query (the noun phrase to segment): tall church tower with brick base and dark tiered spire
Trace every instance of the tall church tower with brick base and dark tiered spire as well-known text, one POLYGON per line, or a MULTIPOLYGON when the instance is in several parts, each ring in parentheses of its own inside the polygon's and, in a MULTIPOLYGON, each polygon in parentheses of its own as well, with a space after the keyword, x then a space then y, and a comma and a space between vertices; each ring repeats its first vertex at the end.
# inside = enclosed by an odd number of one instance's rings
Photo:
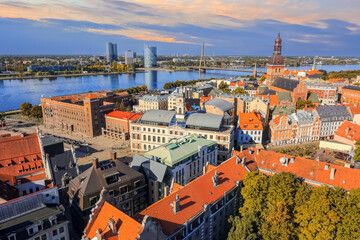
POLYGON ((284 68, 285 65, 284 59, 281 56, 281 38, 279 33, 275 39, 274 53, 267 65, 266 85, 269 88, 276 78, 284 76, 284 68))

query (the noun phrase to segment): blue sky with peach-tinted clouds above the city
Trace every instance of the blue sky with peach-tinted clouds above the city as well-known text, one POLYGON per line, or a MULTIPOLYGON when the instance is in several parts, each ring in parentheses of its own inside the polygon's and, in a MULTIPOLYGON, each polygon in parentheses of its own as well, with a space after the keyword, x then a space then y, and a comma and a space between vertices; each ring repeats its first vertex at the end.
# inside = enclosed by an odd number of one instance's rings
POLYGON ((360 56, 359 0, 0 0, 0 55, 360 56))

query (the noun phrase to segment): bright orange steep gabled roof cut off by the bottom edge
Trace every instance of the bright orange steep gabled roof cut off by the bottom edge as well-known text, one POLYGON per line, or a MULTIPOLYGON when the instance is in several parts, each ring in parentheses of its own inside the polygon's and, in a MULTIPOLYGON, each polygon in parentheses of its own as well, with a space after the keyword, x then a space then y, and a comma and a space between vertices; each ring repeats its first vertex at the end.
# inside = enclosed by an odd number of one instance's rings
POLYGON ((93 239, 96 237, 97 230, 106 240, 133 240, 137 239, 138 234, 143 231, 143 226, 110 203, 104 202, 99 214, 92 220, 92 224, 85 228, 84 233, 88 239, 93 239), (118 228, 115 235, 111 233, 108 226, 110 218, 115 221, 118 228))

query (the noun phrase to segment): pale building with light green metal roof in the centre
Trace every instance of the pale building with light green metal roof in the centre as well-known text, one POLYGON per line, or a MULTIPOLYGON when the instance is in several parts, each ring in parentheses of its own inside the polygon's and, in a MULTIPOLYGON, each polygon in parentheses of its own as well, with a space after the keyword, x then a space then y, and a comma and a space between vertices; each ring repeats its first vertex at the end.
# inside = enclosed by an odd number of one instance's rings
POLYGON ((169 143, 144 153, 144 157, 166 165, 174 182, 182 186, 203 174, 207 164, 217 166, 215 141, 197 134, 170 140, 169 143))

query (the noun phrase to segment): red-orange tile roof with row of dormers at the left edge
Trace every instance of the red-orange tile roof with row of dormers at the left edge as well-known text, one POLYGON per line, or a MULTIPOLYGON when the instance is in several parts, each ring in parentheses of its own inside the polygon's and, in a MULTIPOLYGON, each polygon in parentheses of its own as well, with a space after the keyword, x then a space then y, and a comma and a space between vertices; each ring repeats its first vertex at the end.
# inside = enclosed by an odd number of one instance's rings
POLYGON ((44 171, 36 133, 0 138, 0 153, 0 174, 18 177, 44 171))

